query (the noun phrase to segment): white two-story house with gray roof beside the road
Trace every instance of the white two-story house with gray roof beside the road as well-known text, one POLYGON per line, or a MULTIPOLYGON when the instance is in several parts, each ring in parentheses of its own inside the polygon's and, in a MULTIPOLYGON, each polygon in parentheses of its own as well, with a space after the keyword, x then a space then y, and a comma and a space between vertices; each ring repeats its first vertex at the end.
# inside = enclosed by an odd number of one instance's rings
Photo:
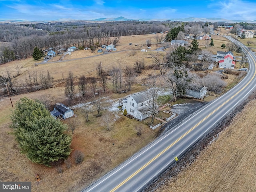
POLYGON ((143 120, 150 115, 147 111, 147 106, 150 104, 150 100, 152 100, 150 92, 144 91, 128 96, 127 98, 120 100, 120 102, 123 104, 123 112, 126 109, 127 114, 138 120, 143 120))

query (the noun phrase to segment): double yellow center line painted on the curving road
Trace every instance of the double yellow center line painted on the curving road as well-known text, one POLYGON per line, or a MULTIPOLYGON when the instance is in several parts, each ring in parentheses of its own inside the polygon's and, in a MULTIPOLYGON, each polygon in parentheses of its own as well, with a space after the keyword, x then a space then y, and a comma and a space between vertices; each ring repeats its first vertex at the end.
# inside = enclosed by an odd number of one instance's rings
MULTIPOLYGON (((250 53, 249 53, 250 54, 250 53)), ((250 54, 250 56, 252 57, 252 55, 250 54)), ((256 63, 254 61, 254 65, 256 66, 256 63)), ((118 186, 116 186, 114 189, 112 189, 110 192, 114 192, 116 191, 118 188, 120 188, 120 186, 122 186, 123 184, 125 184, 128 180, 130 180, 131 178, 133 178, 136 174, 138 174, 139 172, 141 172, 144 168, 146 168, 148 165, 150 165, 154 160, 156 160, 159 156, 161 156, 164 152, 166 152, 168 149, 170 149, 172 146, 174 146, 174 144, 176 144, 178 141, 180 141, 182 138, 184 138, 187 134, 189 134, 192 130, 194 130, 198 125, 200 125, 202 122, 204 122, 206 119, 208 119, 212 114, 214 114, 217 110, 219 110, 222 106, 224 106, 227 102, 229 102, 231 99, 233 99, 237 94, 239 94, 242 90, 244 90, 244 88, 246 88, 248 86, 248 84, 250 84, 250 82, 252 82, 253 78, 256 75, 256 71, 254 72, 254 75, 252 76, 252 78, 250 79, 250 81, 242 88, 240 89, 236 94, 234 94, 232 97, 230 97, 228 100, 226 100, 226 102, 224 102, 222 105, 220 105, 218 108, 216 108, 213 112, 211 112, 210 114, 208 114, 204 119, 202 119, 200 122, 198 122, 194 127, 190 128, 190 130, 188 130, 186 133, 184 133, 180 138, 178 138, 176 141, 174 141, 172 144, 170 144, 168 147, 166 147, 162 152, 160 152, 158 155, 156 155, 154 158, 152 158, 149 162, 147 162, 144 166, 142 166, 140 169, 138 169, 136 172, 134 172, 132 175, 130 175, 128 178, 126 178, 126 180, 124 180, 122 183, 120 183, 118 186)))

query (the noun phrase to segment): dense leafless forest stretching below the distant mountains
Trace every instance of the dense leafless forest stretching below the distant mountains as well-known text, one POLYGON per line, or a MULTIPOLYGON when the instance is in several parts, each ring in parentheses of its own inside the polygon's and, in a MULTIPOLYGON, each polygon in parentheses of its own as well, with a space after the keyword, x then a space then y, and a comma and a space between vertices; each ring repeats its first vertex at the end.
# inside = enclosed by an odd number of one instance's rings
MULTIPOLYGON (((110 44, 112 37, 152 34, 170 31, 182 26, 184 33, 192 33, 192 26, 200 26, 209 32, 208 25, 217 28, 230 23, 211 22, 45 22, 38 24, 0 24, 0 64, 32 56, 35 47, 41 50, 50 47, 56 50, 76 46, 97 48, 110 44)), ((232 24, 235 25, 235 24, 232 24)), ((255 29, 255 24, 239 23, 244 29, 255 29)), ((169 36, 170 37, 170 36, 169 36)), ((171 40, 174 36, 171 36, 171 40)))

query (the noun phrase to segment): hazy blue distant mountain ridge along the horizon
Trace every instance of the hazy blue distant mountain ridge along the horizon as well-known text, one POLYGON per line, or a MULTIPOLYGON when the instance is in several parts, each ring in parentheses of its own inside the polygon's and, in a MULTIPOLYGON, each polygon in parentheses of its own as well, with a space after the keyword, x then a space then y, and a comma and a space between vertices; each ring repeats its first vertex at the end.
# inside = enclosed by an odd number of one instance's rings
MULTIPOLYGON (((201 22, 226 22, 226 23, 236 23, 236 22, 248 22, 248 23, 256 23, 256 20, 250 21, 250 20, 228 20, 223 18, 197 18, 197 17, 189 17, 189 18, 164 18, 164 19, 157 19, 157 18, 138 18, 138 19, 128 19, 125 17, 116 17, 116 18, 98 18, 98 19, 92 19, 92 20, 85 20, 90 22, 111 22, 111 21, 183 21, 183 22, 195 22, 195 21, 201 21, 201 22)), ((71 18, 61 18, 56 20, 45 20, 45 21, 29 21, 24 19, 2 19, 0 18, 0 23, 22 23, 22 22, 66 22, 66 21, 78 21, 76 19, 71 18)))

